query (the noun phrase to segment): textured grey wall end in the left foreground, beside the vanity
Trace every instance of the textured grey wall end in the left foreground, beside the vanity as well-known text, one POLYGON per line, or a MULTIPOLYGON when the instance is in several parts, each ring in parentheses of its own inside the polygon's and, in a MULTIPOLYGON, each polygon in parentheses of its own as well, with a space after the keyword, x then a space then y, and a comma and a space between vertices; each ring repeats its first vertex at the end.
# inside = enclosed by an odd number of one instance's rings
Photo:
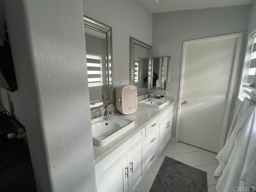
POLYGON ((38 192, 94 192, 82 2, 5 3, 38 192))

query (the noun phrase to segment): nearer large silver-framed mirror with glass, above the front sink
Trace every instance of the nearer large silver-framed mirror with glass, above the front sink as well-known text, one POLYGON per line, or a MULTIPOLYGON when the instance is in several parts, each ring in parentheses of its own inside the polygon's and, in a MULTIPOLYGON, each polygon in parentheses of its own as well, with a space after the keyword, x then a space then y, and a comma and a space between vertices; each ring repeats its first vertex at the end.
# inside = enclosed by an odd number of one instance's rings
POLYGON ((112 28, 84 16, 90 109, 113 103, 112 28))

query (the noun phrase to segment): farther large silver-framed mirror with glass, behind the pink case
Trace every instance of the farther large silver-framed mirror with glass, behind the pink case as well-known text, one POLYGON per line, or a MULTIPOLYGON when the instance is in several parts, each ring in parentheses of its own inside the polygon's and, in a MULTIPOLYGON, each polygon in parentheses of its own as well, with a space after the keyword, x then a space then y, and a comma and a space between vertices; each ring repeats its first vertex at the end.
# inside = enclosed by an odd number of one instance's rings
POLYGON ((137 93, 148 92, 151 85, 151 46, 130 37, 130 84, 137 93))

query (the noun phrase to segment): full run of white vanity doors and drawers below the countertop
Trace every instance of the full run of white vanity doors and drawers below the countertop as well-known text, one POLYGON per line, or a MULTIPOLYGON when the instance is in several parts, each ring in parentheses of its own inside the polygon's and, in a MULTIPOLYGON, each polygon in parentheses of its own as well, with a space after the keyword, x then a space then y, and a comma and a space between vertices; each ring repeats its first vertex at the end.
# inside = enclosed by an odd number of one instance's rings
POLYGON ((172 109, 167 107, 95 165, 98 192, 136 192, 172 134, 172 109))

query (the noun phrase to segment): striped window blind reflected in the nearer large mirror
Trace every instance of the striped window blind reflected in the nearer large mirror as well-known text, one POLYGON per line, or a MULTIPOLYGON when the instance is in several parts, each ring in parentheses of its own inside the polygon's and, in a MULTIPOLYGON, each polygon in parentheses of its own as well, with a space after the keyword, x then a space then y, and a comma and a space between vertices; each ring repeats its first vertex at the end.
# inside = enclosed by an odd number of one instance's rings
POLYGON ((88 85, 102 85, 102 56, 100 54, 86 53, 88 85))

